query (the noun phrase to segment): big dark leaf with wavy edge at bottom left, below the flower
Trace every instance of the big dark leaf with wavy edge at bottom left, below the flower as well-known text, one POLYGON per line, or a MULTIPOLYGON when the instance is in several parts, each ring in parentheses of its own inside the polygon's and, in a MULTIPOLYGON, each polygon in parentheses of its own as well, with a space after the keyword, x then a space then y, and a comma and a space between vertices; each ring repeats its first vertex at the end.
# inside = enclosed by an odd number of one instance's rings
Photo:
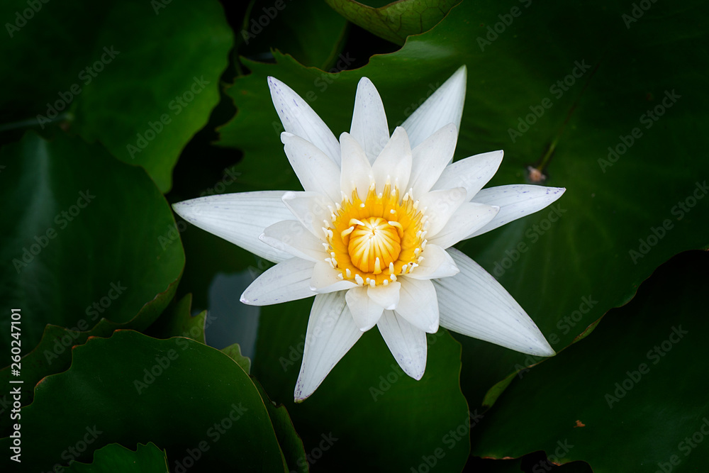
MULTIPOLYGON (((46 471, 86 462, 110 443, 150 441, 176 471, 285 471, 259 391, 218 350, 121 330, 73 353, 72 366, 40 382, 21 409, 24 468, 46 471)), ((11 438, 0 445, 9 452, 11 438)))

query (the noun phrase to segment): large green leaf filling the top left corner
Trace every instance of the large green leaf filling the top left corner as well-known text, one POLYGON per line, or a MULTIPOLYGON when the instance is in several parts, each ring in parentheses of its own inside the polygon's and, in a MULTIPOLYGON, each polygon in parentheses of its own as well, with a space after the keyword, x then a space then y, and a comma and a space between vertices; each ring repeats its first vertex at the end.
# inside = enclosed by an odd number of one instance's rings
POLYGON ((40 2, 36 13, 28 6, 0 6, 0 17, 19 25, 0 43, 13 71, 0 92, 5 121, 37 118, 45 128, 68 111, 64 128, 145 167, 167 191, 179 153, 219 100, 233 45, 222 7, 216 0, 40 2))

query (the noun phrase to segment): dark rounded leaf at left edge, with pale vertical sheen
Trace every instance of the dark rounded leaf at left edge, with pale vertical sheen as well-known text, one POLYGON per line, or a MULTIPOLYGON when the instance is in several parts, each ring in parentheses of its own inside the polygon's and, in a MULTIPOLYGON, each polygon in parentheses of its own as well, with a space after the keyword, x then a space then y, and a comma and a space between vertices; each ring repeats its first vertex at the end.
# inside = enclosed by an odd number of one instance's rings
MULTIPOLYGON (((67 369, 72 345, 155 321, 174 295, 184 253, 179 243, 160 244, 175 231, 174 219, 145 171, 100 145, 28 133, 2 148, 0 160, 6 166, 0 200, 13 203, 5 206, 0 230, 7 262, 0 306, 4 313, 21 310, 23 355, 42 337, 21 362, 20 379, 29 386, 24 404, 31 386, 67 369)), ((0 349, 9 353, 10 318, 0 327, 0 349)), ((17 379, 10 368, 0 372, 4 383, 17 379)))

